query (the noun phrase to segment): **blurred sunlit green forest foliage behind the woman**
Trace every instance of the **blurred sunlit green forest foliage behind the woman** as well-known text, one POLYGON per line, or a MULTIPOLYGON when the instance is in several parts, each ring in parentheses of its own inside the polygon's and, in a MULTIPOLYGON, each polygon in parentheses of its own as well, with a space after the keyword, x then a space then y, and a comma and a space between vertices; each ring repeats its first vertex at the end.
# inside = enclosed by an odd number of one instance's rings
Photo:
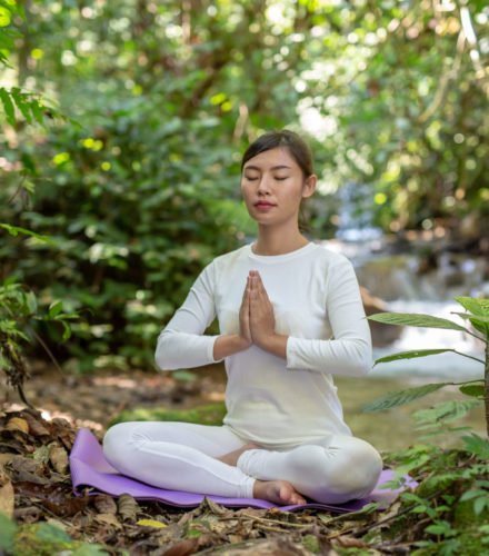
POLYGON ((152 365, 197 272, 253 235, 239 160, 271 128, 310 137, 312 238, 341 227, 345 185, 385 232, 489 231, 485 1, 28 0, 26 20, 13 4, 1 86, 46 108, 43 126, 0 110, 0 221, 57 247, 0 230, 0 277, 83 309, 56 348, 68 366, 152 365))

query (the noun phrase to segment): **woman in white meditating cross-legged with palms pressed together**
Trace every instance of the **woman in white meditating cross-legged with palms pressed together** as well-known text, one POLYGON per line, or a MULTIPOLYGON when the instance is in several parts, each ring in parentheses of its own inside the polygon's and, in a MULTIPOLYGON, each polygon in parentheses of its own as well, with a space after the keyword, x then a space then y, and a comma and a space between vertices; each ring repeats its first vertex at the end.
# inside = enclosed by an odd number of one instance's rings
POLYGON ((164 370, 224 360, 223 425, 119 424, 106 435, 106 457, 122 474, 174 490, 281 505, 361 498, 382 463, 351 436, 331 378, 371 367, 352 266, 299 231, 301 200, 317 182, 299 136, 259 137, 241 170, 258 239, 203 269, 156 351, 164 370), (216 315, 221 334, 204 336, 216 315))

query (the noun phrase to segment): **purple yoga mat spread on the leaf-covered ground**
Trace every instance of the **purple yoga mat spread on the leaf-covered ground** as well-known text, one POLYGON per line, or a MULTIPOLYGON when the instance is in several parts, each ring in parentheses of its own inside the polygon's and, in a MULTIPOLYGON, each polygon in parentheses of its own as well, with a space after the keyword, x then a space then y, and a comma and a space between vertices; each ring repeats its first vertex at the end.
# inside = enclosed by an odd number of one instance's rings
MULTIPOLYGON (((76 494, 80 494, 83 487, 92 487, 91 494, 106 493, 111 496, 120 496, 123 493, 132 495, 138 500, 159 500, 170 506, 181 508, 191 508, 199 506, 203 494, 184 493, 179 490, 166 490, 163 488, 152 487, 146 483, 131 479, 120 475, 109 461, 103 457, 102 447, 93 434, 87 428, 81 428, 73 444, 70 454, 70 469, 76 494)), ((352 500, 347 504, 332 505, 310 503, 306 505, 277 506, 268 500, 258 498, 227 498, 223 496, 207 495, 217 504, 228 507, 253 507, 270 508, 278 507, 281 510, 295 512, 303 508, 328 509, 337 513, 358 512, 370 502, 390 502, 402 488, 397 490, 380 489, 379 487, 393 478, 393 471, 386 469, 382 471, 376 489, 368 498, 352 500)), ((406 487, 413 487, 417 483, 406 476, 406 487)))

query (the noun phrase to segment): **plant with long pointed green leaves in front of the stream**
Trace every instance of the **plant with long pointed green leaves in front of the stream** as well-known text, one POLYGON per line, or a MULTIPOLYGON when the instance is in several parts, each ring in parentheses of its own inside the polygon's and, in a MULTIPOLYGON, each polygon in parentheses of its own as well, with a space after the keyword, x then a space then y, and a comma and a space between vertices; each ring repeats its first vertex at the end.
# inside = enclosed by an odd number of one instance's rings
MULTIPOLYGON (((445 386, 455 385, 459 386, 460 391, 466 396, 476 398, 471 406, 485 404, 485 415, 486 425, 489 436, 489 299, 476 299, 472 297, 456 297, 458 301, 467 312, 456 312, 459 317, 468 320, 473 329, 469 329, 466 326, 458 325, 451 320, 445 318, 432 317, 430 315, 418 315, 418 314, 405 314, 405 312, 383 312, 379 315, 371 315, 368 317, 371 320, 378 322, 383 322, 388 325, 403 325, 403 326, 417 326, 427 328, 446 328, 449 330, 459 330, 470 336, 473 336, 478 340, 486 345, 485 348, 485 359, 479 359, 468 354, 463 354, 456 349, 417 349, 412 351, 402 351, 400 354, 395 354, 391 356, 382 357, 376 360, 376 365, 379 363, 390 363, 399 359, 412 359, 416 357, 426 357, 430 355, 437 355, 441 353, 453 353, 462 357, 468 357, 483 365, 483 377, 476 380, 465 380, 461 383, 433 383, 416 388, 408 388, 406 390, 389 393, 382 398, 370 401, 363 407, 363 411, 377 411, 379 409, 387 409, 391 407, 397 407, 413 399, 421 398, 428 394, 431 394, 445 386)), ((466 405, 468 408, 468 406, 466 405)), ((440 408, 439 408, 440 409, 440 408)), ((459 415, 461 408, 455 410, 459 415)), ((433 417, 433 414, 430 416, 433 417)), ((441 414, 438 415, 438 418, 441 414)), ((437 416, 435 416, 437 418, 437 416)))

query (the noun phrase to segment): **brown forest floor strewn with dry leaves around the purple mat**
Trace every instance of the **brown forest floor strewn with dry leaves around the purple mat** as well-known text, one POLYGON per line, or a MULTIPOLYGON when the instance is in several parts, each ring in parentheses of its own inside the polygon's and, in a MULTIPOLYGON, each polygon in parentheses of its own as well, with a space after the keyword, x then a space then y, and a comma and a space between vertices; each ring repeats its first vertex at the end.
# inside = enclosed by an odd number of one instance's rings
POLYGON ((208 369, 193 379, 148 373, 36 373, 26 385, 36 409, 19 404, 13 393, 3 394, 0 513, 13 520, 0 523, 0 554, 1 548, 16 556, 413 553, 422 538, 416 523, 410 530, 396 526, 390 532, 406 513, 400 500, 369 513, 335 515, 318 509, 229 509, 207 498, 189 510, 129 495, 73 495, 68 455, 79 428, 91 429, 100 440, 122 410, 161 405, 186 409, 220 401, 223 390, 220 373, 208 369))

